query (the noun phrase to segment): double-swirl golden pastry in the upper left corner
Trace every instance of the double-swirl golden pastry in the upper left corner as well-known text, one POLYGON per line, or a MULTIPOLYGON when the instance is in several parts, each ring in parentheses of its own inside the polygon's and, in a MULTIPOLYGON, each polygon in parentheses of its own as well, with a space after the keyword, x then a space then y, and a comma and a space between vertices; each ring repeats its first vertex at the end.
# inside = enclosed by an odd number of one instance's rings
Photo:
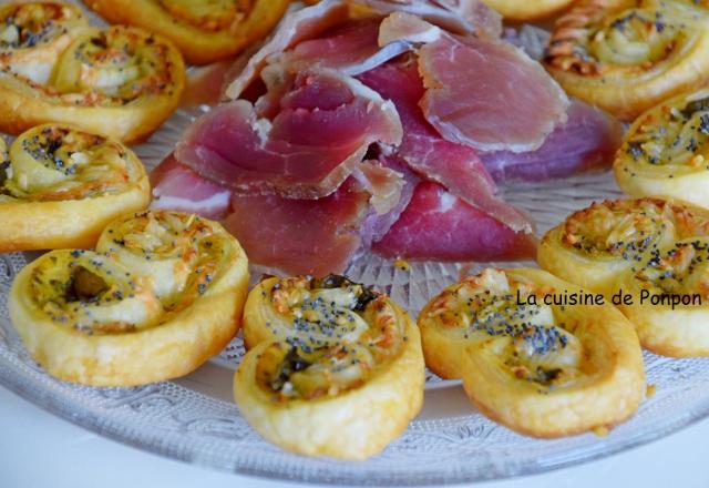
POLYGON ((179 51, 136 28, 100 30, 80 20, 54 27, 50 7, 59 6, 34 2, 0 10, 10 16, 0 19, 6 26, 0 30, 0 130, 18 134, 58 122, 126 143, 146 139, 179 103, 185 85, 179 51), (40 13, 20 16, 20 9, 40 13))

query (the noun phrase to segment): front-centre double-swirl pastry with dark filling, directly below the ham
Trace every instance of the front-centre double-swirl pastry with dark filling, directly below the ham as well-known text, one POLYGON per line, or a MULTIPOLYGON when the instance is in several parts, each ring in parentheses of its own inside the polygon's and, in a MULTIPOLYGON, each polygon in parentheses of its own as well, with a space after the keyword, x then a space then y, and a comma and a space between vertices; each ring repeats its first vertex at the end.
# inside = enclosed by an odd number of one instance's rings
POLYGON ((234 377, 248 423, 298 454, 363 459, 419 413, 419 331, 389 297, 341 276, 269 278, 244 313, 234 377))

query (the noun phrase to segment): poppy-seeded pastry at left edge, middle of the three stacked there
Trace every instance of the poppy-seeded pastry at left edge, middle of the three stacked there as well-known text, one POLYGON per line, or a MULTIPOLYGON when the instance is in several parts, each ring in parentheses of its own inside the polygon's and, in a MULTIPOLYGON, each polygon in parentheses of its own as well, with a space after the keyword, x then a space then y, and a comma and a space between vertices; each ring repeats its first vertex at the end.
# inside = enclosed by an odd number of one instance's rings
POLYGON ((0 252, 91 247, 109 222, 148 202, 145 169, 120 142, 65 125, 30 129, 0 164, 0 252))

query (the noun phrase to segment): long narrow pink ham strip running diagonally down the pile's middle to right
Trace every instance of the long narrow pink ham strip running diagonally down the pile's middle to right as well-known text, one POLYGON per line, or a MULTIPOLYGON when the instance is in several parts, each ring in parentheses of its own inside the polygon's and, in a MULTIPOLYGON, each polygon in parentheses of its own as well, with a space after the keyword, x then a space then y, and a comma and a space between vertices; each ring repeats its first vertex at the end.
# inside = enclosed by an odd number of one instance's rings
POLYGON ((411 61, 387 63, 359 77, 397 106, 404 128, 398 156, 422 177, 443 184, 513 231, 531 232, 530 221, 495 196, 495 184, 475 150, 444 140, 425 121, 418 104, 424 89, 417 64, 411 61))

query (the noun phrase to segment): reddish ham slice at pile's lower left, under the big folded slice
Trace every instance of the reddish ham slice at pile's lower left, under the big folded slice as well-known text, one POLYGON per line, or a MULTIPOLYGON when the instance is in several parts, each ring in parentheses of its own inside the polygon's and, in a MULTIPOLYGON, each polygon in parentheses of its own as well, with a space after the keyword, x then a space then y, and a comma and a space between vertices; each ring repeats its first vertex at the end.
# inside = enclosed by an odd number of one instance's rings
POLYGON ((288 274, 342 273, 362 244, 368 200, 353 179, 319 200, 235 195, 225 226, 253 263, 288 274))

